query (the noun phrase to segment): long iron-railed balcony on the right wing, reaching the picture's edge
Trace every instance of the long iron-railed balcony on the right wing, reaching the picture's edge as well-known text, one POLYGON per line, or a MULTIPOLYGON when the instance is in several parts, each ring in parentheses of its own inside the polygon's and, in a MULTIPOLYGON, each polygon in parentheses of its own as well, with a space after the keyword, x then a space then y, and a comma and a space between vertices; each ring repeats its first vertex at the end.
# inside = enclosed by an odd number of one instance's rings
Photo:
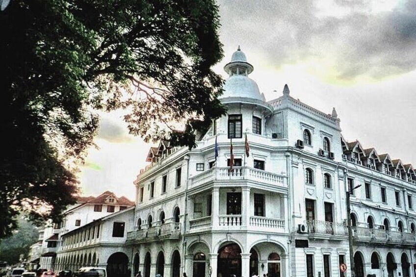
POLYGON ((379 244, 415 245, 416 236, 413 233, 386 231, 379 228, 353 227, 354 240, 379 244))

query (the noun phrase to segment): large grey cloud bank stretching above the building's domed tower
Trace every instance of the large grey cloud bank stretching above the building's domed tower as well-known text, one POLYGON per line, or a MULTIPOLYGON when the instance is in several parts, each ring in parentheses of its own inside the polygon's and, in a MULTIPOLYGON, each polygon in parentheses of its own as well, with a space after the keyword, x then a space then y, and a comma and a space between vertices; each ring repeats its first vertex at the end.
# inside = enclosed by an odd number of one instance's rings
POLYGON ((275 67, 335 58, 339 79, 378 79, 416 68, 416 1, 398 3, 369 13, 368 0, 335 0, 345 12, 322 16, 311 0, 220 0, 221 35, 226 52, 240 44, 275 67))

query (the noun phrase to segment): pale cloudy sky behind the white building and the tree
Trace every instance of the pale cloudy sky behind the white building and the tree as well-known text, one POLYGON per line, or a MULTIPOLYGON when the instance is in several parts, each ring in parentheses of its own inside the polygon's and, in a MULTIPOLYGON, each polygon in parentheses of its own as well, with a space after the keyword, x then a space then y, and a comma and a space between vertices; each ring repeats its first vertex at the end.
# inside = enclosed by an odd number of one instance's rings
MULTIPOLYGON (((326 113, 342 135, 416 166, 416 1, 218 0, 224 65, 238 46, 270 101, 290 95, 326 113)), ((83 195, 133 200, 151 145, 129 135, 123 111, 102 113, 79 180, 83 195)))

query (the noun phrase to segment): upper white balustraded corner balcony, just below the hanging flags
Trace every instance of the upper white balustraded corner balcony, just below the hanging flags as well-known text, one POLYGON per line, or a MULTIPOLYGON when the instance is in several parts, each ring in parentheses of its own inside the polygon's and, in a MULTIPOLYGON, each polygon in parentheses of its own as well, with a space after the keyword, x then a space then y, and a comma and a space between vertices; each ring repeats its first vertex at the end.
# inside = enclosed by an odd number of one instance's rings
POLYGON ((190 185, 195 187, 211 181, 243 179, 286 187, 286 176, 244 166, 234 167, 233 171, 230 171, 230 167, 213 167, 199 175, 193 176, 190 185))

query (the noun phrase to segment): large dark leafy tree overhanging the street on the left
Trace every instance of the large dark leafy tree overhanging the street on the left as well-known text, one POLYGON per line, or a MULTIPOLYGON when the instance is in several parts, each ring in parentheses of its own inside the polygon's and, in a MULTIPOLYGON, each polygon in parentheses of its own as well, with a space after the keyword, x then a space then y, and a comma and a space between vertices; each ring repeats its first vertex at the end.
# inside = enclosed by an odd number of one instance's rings
POLYGON ((74 203, 96 109, 125 108, 131 133, 192 148, 224 114, 218 28, 214 0, 11 0, 0 12, 0 238, 19 210, 59 221, 74 203))

